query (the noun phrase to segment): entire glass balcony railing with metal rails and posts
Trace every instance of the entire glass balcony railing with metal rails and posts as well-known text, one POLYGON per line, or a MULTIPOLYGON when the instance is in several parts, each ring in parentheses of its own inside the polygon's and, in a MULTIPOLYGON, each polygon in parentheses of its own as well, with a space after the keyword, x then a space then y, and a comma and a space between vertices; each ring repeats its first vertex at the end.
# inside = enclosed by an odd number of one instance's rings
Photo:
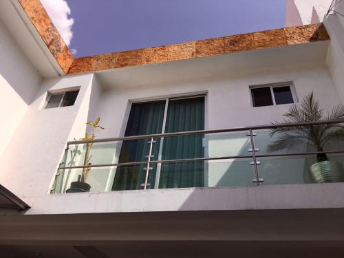
POLYGON ((344 182, 343 162, 339 120, 74 141, 51 193, 344 182))

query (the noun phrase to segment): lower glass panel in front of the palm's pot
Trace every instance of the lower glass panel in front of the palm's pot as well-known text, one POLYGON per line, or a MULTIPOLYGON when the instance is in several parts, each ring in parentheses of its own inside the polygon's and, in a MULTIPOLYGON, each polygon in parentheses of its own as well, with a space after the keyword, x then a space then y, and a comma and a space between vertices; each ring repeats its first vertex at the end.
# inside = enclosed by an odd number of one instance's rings
POLYGON ((329 160, 318 162, 316 155, 288 158, 259 158, 261 184, 315 184, 344 182, 342 155, 328 155, 329 160))

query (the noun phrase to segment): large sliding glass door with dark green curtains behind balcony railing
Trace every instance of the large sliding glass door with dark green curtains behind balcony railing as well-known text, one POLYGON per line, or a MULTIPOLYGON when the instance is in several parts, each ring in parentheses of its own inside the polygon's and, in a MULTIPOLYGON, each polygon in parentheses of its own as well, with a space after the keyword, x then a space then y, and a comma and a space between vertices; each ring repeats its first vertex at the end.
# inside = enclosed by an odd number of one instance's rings
MULTIPOLYGON (((166 98, 131 106, 125 136, 204 130, 204 96, 166 98)), ((118 163, 146 161, 149 139, 122 143, 118 163)), ((204 157, 203 136, 155 138, 153 160, 204 157)), ((144 165, 119 166, 112 189, 142 189, 144 165)), ((204 162, 154 164, 149 171, 149 187, 181 188, 204 186, 204 162)))

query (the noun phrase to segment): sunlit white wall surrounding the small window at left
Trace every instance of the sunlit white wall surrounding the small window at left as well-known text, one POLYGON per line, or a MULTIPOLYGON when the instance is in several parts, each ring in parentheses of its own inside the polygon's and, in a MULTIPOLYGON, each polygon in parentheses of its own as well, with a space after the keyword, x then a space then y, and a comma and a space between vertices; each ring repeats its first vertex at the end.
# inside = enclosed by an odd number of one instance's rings
POLYGON ((48 193, 67 140, 85 133, 93 74, 45 79, 8 149, 1 157, 0 182, 19 197, 48 193), (80 87, 76 103, 42 109, 47 91, 80 87))

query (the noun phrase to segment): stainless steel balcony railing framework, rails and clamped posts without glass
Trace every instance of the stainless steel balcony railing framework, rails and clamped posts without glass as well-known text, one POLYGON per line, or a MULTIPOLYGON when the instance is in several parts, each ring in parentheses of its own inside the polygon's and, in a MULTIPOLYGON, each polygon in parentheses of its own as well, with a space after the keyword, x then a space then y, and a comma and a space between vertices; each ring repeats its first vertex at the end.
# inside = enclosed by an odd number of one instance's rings
MULTIPOLYGON (((259 126, 250 126, 250 127, 237 127, 237 128, 230 128, 230 129, 217 129, 217 130, 202 130, 202 131, 184 131, 178 133, 160 133, 160 134, 150 134, 144 136, 129 136, 129 137, 122 137, 122 138, 106 138, 106 139, 99 139, 99 140, 79 140, 79 141, 71 141, 67 142, 67 150, 69 149, 69 145, 72 144, 86 144, 86 143, 95 143, 95 142, 115 142, 115 141, 124 141, 124 140, 142 140, 148 139, 149 142, 149 153, 146 156, 148 160, 140 161, 140 162, 123 162, 123 163, 109 163, 109 164, 88 164, 83 166, 63 166, 66 163, 66 160, 60 164, 58 170, 65 171, 66 169, 85 169, 85 168, 96 168, 96 167, 109 167, 109 166, 132 166, 132 165, 144 165, 146 176, 144 182, 141 186, 144 189, 147 189, 149 186, 148 177, 149 171, 153 169, 151 164, 163 164, 163 163, 185 163, 185 162, 197 162, 197 161, 210 161, 210 160, 235 160, 235 159, 252 159, 253 161, 250 162, 250 165, 254 166, 255 169, 255 178, 252 179, 252 183, 255 183, 257 186, 261 182, 264 182, 264 178, 259 178, 259 169, 258 165, 261 164, 258 158, 273 158, 273 157, 298 157, 298 156, 307 156, 307 155, 316 155, 316 154, 330 154, 330 153, 344 153, 343 151, 308 151, 303 153, 277 153, 277 154, 264 154, 259 155, 258 149, 255 148, 255 140, 254 137, 257 135, 254 131, 262 130, 262 129, 278 129, 278 128, 287 128, 287 127, 312 127, 314 125, 330 125, 330 124, 341 124, 344 123, 343 120, 322 120, 316 122, 294 122, 294 123, 286 123, 286 124, 270 124, 270 125, 259 125, 259 126), (207 157, 207 158, 186 158, 186 159, 175 159, 175 160, 151 160, 153 158, 152 155, 152 147, 153 143, 155 142, 154 138, 166 138, 166 137, 173 137, 173 136, 191 136, 197 134, 210 134, 210 133, 226 133, 226 132, 239 132, 239 131, 246 131, 247 136, 249 137, 250 148, 248 151, 252 152, 250 155, 234 155, 234 156, 222 156, 222 157, 207 157)), ((67 153, 65 153, 65 158, 67 153)), ((56 176, 59 174, 56 173, 56 176)), ((52 189, 52 191, 54 188, 52 189)))

